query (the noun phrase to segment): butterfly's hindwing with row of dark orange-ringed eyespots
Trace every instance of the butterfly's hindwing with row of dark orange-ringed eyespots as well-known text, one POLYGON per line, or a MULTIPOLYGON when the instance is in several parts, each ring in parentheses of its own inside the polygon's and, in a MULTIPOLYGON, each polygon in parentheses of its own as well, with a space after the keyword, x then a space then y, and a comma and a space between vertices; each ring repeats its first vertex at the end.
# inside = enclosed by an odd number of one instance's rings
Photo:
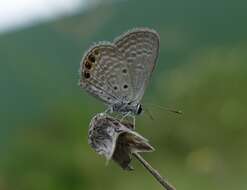
POLYGON ((80 67, 80 86, 108 105, 133 96, 126 61, 114 44, 104 42, 91 47, 80 67))

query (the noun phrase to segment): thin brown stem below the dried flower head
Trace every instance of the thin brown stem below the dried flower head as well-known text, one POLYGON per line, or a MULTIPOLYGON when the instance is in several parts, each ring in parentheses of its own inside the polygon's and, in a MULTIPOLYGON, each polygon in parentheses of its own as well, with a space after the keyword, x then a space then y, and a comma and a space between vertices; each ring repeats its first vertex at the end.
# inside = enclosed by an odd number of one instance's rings
POLYGON ((164 177, 162 177, 157 170, 155 170, 144 158, 138 154, 133 153, 135 158, 141 162, 141 164, 155 177, 155 179, 166 189, 166 190, 176 190, 164 177))

